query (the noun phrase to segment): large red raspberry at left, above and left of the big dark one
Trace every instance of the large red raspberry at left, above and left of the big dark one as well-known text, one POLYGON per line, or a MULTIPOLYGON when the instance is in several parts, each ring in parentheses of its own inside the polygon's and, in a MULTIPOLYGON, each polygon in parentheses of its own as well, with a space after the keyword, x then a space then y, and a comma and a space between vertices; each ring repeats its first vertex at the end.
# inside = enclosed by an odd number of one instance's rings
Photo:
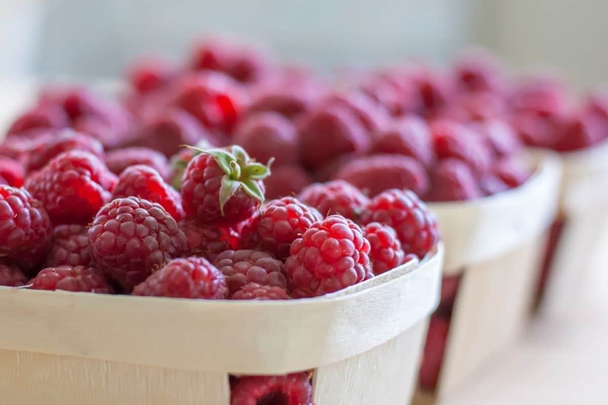
POLYGON ((26 180, 54 223, 89 223, 108 202, 116 176, 85 151, 63 152, 26 180))

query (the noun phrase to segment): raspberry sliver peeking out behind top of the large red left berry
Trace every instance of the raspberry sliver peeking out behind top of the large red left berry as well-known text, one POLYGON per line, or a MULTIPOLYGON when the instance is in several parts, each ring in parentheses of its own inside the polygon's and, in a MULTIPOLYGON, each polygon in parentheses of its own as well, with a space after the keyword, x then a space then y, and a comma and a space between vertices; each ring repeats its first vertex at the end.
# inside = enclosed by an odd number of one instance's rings
POLYGON ((98 140, 66 129, 57 134, 53 140, 41 142, 30 152, 26 164, 27 172, 31 173, 43 168, 52 158, 67 151, 91 152, 103 160, 103 146, 98 140))

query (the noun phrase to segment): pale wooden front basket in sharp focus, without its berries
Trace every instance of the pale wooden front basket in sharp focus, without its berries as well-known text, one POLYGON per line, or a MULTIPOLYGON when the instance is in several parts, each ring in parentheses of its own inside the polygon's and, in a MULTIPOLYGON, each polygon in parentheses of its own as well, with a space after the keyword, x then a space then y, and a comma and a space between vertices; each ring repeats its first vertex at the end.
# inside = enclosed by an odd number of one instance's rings
POLYGON ((313 370, 316 405, 401 405, 413 394, 442 264, 439 245, 422 262, 289 301, 0 287, 0 402, 229 405, 230 374, 313 370))

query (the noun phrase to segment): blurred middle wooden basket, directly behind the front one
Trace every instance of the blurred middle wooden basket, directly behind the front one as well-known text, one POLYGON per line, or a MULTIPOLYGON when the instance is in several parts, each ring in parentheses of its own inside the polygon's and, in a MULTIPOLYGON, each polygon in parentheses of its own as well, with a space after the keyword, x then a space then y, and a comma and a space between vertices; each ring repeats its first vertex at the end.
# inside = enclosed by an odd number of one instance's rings
MULTIPOLYGON (((420 388, 413 400, 416 405, 449 397, 510 344, 529 318, 561 176, 555 154, 536 153, 530 160, 536 170, 516 189, 468 202, 429 204, 446 247, 444 280, 455 281, 455 295, 447 305, 443 356, 430 353, 440 362, 434 389, 420 388)), ((434 317, 446 310, 443 304, 434 317)), ((429 344, 426 349, 433 350, 431 340, 429 344)))

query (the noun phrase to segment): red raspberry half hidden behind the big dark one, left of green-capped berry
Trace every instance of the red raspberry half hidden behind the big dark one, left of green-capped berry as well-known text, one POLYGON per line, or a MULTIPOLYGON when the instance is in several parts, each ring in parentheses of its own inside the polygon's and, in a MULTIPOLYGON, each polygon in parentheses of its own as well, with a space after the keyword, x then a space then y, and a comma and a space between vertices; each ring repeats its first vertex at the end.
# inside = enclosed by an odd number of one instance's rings
POLYGON ((184 218, 179 192, 165 183, 161 175, 150 166, 131 166, 120 174, 112 192, 112 200, 133 196, 159 203, 176 221, 184 218))

